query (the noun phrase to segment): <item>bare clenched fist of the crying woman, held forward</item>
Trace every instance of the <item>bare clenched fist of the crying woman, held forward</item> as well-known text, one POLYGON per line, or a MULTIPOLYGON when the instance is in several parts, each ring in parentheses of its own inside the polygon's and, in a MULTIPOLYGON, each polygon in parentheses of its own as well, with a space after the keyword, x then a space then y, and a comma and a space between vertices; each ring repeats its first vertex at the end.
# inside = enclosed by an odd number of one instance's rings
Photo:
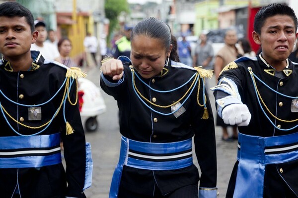
POLYGON ((101 65, 103 75, 112 77, 113 80, 120 80, 123 76, 123 64, 121 60, 110 59, 101 65))

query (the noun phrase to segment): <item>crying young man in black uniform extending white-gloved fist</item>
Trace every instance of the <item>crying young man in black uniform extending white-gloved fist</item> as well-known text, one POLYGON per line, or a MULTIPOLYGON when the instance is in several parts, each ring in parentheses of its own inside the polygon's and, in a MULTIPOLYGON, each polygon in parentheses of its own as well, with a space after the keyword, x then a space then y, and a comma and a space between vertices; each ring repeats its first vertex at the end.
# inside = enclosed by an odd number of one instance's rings
POLYGON ((227 198, 298 197, 297 23, 288 5, 261 8, 252 36, 262 52, 229 63, 213 88, 219 115, 239 127, 227 198))

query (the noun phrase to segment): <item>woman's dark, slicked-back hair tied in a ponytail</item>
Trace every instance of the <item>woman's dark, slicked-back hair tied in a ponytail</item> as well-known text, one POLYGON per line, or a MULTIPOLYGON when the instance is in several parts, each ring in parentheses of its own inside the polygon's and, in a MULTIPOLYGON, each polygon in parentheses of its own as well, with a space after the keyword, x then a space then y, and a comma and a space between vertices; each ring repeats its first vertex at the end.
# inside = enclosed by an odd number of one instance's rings
POLYGON ((180 62, 178 53, 177 53, 177 40, 171 34, 170 27, 163 21, 150 17, 139 22, 131 32, 131 41, 134 40, 134 37, 137 35, 144 35, 149 38, 159 39, 166 50, 170 48, 172 44, 172 50, 170 53, 170 59, 176 62, 180 62))

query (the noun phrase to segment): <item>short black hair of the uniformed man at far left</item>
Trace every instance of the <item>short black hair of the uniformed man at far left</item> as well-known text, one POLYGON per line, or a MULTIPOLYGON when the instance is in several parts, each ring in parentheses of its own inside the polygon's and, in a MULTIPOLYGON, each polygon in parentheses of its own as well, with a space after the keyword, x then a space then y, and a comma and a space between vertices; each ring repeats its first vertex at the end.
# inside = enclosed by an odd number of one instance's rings
POLYGON ((15 1, 4 2, 0 4, 0 16, 6 17, 25 17, 26 22, 30 25, 31 33, 34 32, 34 18, 29 9, 15 1))

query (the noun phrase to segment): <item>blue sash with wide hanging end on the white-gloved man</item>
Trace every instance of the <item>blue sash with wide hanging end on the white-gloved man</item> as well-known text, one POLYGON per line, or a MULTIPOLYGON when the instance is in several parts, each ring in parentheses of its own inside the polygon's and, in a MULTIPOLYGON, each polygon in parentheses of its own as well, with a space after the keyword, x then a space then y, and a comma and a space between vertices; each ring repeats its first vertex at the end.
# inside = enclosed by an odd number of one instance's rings
POLYGON ((262 198, 265 167, 298 159, 298 133, 259 137, 239 133, 233 198, 262 198))

